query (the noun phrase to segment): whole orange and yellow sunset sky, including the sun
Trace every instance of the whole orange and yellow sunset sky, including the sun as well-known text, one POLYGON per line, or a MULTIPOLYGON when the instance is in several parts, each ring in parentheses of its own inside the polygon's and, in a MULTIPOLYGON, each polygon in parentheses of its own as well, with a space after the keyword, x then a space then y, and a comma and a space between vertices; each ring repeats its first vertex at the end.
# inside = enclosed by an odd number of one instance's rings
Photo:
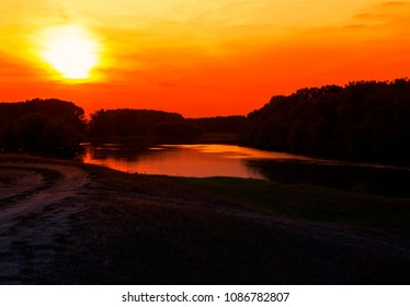
POLYGON ((410 1, 0 0, 0 101, 247 114, 410 77, 410 1))

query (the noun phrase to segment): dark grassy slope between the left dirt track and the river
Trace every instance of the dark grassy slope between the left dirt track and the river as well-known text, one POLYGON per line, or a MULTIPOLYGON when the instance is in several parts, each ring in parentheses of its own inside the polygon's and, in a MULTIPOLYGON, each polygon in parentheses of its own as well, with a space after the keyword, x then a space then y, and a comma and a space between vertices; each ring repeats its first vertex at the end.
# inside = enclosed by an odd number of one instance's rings
POLYGON ((365 228, 376 242, 388 242, 408 238, 408 200, 247 179, 86 168, 96 182, 98 196, 92 198, 98 203, 87 226, 76 229, 90 236, 80 236, 84 242, 65 260, 72 268, 65 273, 68 283, 408 283, 409 259, 383 245, 364 239, 361 246, 333 235, 322 239, 326 229, 304 234, 304 228, 289 230, 230 214, 321 220, 349 234, 365 228))

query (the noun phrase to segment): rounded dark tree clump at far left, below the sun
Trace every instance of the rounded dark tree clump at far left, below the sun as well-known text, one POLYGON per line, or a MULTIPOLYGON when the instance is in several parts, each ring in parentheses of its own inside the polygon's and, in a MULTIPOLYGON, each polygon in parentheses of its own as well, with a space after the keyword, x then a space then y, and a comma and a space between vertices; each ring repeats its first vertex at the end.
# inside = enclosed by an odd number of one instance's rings
POLYGON ((72 158, 84 139, 84 111, 72 102, 0 103, 0 150, 72 158))

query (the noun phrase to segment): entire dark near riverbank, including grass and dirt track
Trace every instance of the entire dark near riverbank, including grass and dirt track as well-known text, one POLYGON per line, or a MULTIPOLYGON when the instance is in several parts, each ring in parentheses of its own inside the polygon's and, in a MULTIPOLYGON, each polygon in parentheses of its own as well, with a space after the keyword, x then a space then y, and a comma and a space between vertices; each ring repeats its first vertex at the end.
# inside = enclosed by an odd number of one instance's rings
POLYGON ((0 204, 2 284, 408 284, 410 273, 409 198, 3 156, 0 204))

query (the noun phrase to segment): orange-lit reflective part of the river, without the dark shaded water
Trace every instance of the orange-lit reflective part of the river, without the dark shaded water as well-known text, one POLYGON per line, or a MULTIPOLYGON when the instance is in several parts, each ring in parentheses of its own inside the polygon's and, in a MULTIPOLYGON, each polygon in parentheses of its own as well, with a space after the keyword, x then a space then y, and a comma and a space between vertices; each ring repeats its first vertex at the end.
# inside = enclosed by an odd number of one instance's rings
POLYGON ((304 156, 234 145, 160 145, 141 150, 104 144, 90 145, 84 162, 132 173, 266 179, 251 163, 262 159, 309 160, 304 156))

